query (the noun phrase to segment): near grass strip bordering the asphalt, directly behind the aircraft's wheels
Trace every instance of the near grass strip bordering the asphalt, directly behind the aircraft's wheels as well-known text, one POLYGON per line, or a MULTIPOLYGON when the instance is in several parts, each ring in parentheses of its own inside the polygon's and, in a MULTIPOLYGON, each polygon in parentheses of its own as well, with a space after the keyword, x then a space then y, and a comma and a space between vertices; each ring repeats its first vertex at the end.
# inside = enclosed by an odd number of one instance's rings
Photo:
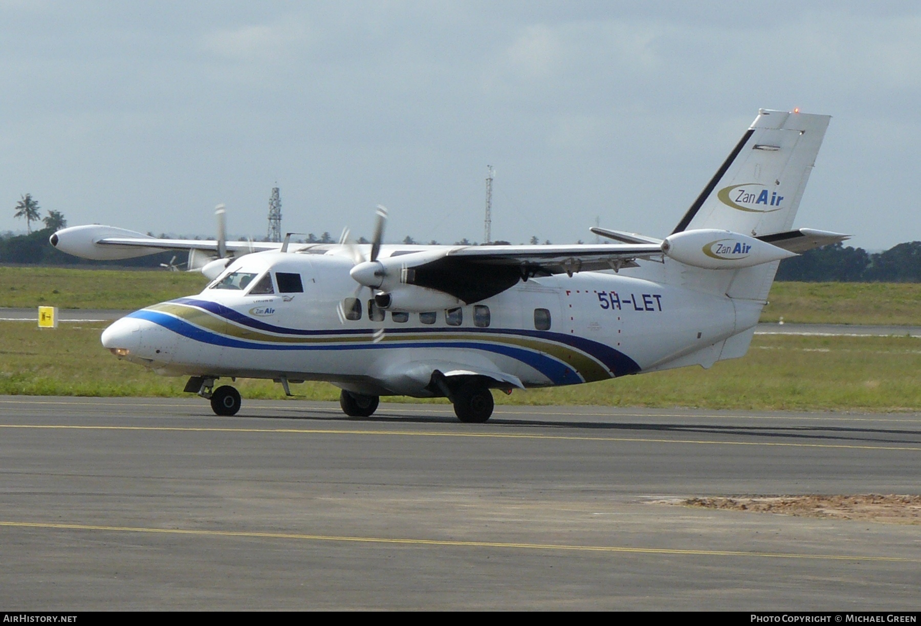
MULTIPOLYGON (((102 348, 104 327, 40 330, 0 322, 0 394, 183 396, 185 379, 158 376, 102 348)), ((917 338, 758 336, 746 357, 717 362, 708 371, 683 368, 495 398, 518 405, 918 410, 919 372, 917 338)), ((281 385, 267 381, 239 380, 237 386, 244 398, 284 397, 281 385)), ((292 385, 292 392, 317 400, 339 394, 324 383, 292 385)))

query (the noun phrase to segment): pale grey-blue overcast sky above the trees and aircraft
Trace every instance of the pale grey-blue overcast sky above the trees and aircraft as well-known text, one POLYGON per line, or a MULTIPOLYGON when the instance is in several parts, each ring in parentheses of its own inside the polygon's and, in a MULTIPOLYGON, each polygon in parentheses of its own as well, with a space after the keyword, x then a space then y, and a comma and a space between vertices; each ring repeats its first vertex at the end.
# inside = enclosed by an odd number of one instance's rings
POLYGON ((670 232, 759 108, 833 115, 798 227, 921 240, 921 3, 0 0, 0 230, 670 232))

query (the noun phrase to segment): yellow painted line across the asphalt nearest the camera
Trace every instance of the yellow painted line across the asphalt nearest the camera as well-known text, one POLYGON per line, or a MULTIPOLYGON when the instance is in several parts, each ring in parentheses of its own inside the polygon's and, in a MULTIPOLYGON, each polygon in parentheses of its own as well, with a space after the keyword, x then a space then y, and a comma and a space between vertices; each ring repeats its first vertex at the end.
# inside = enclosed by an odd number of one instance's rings
POLYGON ((621 552, 631 554, 672 554, 682 556, 760 557, 768 559, 821 559, 825 561, 887 561, 917 562, 905 557, 872 557, 854 554, 799 554, 795 552, 744 552, 741 550, 628 548, 625 546, 580 546, 554 543, 516 543, 506 541, 457 541, 449 539, 414 539, 393 537, 349 537, 336 535, 306 535, 300 533, 263 533, 234 530, 187 530, 182 528, 146 528, 144 526, 92 526, 86 524, 41 524, 38 522, 0 522, 0 526, 44 528, 48 530, 97 530, 122 533, 156 533, 162 535, 192 535, 197 537, 244 537, 261 539, 298 539, 301 541, 334 541, 341 543, 400 544, 408 546, 442 546, 460 548, 504 548, 534 550, 565 550, 576 552, 621 552))

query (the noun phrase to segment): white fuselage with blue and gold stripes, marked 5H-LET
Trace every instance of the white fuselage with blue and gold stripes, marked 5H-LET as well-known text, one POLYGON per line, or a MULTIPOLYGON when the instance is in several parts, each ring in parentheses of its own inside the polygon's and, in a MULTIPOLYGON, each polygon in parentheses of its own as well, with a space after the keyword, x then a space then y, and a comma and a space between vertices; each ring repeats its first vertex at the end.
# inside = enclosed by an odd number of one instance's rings
POLYGON ((247 254, 197 296, 117 321, 102 343, 169 375, 431 396, 433 369, 505 372, 526 387, 605 380, 660 368, 757 319, 725 296, 613 272, 530 278, 450 310, 383 311, 353 266, 329 251, 247 254))

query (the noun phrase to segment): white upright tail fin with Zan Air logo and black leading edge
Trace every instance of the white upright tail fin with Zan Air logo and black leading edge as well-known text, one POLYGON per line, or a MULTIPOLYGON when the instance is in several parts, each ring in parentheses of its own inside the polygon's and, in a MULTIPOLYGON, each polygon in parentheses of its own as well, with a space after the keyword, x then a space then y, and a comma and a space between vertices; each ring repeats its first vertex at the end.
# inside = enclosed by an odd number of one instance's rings
POLYGON ((790 230, 830 119, 762 109, 674 232, 790 230))

